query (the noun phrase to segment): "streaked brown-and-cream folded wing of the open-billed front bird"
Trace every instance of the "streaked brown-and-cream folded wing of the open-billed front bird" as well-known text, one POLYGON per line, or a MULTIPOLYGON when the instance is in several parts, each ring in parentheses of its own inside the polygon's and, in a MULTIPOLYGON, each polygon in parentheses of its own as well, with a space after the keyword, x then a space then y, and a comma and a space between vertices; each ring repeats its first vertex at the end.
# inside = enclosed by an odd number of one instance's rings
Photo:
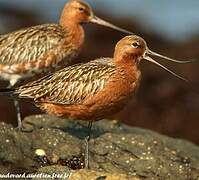
POLYGON ((54 104, 81 104, 87 97, 102 90, 115 66, 109 58, 77 64, 20 87, 16 93, 22 98, 54 104))

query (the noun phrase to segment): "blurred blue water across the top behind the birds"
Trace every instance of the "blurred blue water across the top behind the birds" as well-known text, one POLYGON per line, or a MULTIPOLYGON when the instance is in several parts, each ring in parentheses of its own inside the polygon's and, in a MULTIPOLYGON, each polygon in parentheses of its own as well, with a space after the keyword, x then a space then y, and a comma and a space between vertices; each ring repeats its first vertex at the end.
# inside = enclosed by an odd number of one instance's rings
MULTIPOLYGON (((0 0, 0 6, 34 11, 42 22, 58 21, 66 0, 0 0)), ((185 41, 199 34, 199 1, 197 0, 87 0, 107 17, 128 17, 147 31, 172 41, 185 41)), ((107 19, 107 18, 106 18, 107 19)), ((5 19, 4 19, 5 20, 5 19)))

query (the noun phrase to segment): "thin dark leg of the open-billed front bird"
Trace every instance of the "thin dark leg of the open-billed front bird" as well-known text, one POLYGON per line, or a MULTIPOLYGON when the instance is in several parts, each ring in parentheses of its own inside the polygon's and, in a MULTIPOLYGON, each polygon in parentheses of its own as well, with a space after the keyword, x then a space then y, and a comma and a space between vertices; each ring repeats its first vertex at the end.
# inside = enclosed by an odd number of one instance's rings
POLYGON ((89 121, 89 123, 88 123, 88 135, 85 137, 85 145, 86 145, 86 148, 85 148, 85 160, 84 160, 85 169, 89 168, 89 140, 90 140, 90 137, 91 137, 92 124, 93 124, 93 121, 89 121))

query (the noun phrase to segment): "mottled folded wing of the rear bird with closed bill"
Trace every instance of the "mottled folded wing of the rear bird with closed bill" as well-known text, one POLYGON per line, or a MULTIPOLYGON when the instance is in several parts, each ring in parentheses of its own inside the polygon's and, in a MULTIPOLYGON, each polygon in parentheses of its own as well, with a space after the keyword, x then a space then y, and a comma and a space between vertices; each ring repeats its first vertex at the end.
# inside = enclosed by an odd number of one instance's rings
POLYGON ((58 24, 44 24, 0 36, 0 64, 13 65, 42 58, 63 42, 67 32, 58 24))

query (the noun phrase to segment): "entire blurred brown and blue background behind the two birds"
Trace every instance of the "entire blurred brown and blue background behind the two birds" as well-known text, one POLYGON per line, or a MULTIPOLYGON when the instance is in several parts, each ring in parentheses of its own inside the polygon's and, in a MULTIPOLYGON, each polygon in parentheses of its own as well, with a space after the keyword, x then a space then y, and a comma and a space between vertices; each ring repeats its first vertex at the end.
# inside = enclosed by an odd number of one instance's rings
MULTIPOLYGON (((42 23, 58 22, 66 0, 0 0, 0 34, 42 23)), ((199 1, 196 0, 88 0, 96 15, 141 35, 150 49, 178 59, 199 60, 199 1)), ((75 62, 112 56, 124 34, 87 25, 86 41, 75 62)), ((173 137, 199 143, 199 63, 164 65, 187 77, 194 86, 164 70, 142 62, 142 81, 135 99, 115 118, 173 137), (197 92, 198 91, 198 92, 197 92)), ((2 82, 1 86, 6 84, 2 82)), ((0 97, 1 120, 16 124, 11 99, 0 97)), ((22 102, 23 116, 39 113, 22 102)))

